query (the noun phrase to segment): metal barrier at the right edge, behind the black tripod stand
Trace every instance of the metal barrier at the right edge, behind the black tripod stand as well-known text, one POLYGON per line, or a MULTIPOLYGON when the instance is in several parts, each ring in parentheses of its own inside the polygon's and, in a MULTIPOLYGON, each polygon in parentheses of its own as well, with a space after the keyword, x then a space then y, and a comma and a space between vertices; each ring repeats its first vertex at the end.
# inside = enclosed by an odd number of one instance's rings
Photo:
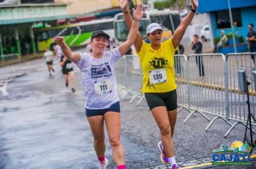
MULTIPOLYGON (((255 69, 255 65, 252 62, 251 55, 255 55, 256 53, 234 53, 227 54, 227 81, 229 84, 228 89, 229 92, 228 102, 229 102, 229 120, 235 120, 236 122, 230 127, 229 131, 226 133, 225 137, 229 134, 229 132, 238 124, 245 125, 247 122, 247 93, 242 93, 239 91, 238 85, 238 69, 245 69, 247 72, 248 79, 252 79, 252 71, 255 69)), ((251 81, 251 80, 248 80, 251 81)), ((249 86, 249 94, 250 94, 250 109, 252 115, 255 117, 256 110, 256 89, 254 89, 254 84, 251 82, 249 86)), ((256 125, 255 122, 252 122, 252 125, 256 125)))

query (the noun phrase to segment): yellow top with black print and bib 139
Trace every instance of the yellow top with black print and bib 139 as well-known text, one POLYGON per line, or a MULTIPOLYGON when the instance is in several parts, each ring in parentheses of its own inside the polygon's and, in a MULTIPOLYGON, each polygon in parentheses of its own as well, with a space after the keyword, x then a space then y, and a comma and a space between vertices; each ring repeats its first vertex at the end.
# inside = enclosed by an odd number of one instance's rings
POLYGON ((152 49, 150 44, 143 41, 140 52, 137 52, 144 74, 142 92, 170 92, 176 89, 174 67, 176 49, 173 48, 171 39, 162 42, 158 50, 152 49))

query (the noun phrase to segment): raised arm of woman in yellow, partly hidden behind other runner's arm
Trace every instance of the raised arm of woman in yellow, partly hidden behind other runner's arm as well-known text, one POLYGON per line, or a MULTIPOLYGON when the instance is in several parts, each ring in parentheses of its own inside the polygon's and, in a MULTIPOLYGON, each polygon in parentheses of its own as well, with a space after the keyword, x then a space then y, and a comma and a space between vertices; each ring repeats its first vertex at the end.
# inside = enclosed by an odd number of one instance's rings
MULTIPOLYGON (((129 14, 128 0, 120 0, 119 4, 124 13, 125 24, 127 24, 127 27, 130 30, 132 28, 132 16, 130 16, 130 14, 129 14)), ((134 41, 134 47, 137 52, 139 52, 140 48, 142 47, 142 36, 140 35, 139 31, 137 31, 137 34, 136 34, 136 39, 134 41)))

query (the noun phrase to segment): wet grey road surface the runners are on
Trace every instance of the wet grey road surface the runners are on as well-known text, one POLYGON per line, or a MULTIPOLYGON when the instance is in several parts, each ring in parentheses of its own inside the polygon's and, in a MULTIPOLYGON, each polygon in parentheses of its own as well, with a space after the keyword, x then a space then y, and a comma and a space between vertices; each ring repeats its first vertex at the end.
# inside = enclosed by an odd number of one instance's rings
MULTIPOLYGON (((0 168, 97 167, 91 130, 84 115, 81 74, 75 69, 77 92, 73 95, 65 87, 57 61, 54 67, 53 77, 49 77, 45 62, 40 59, 0 68, 1 75, 24 73, 9 83, 9 96, 0 94, 0 168)), ((120 92, 122 95, 124 91, 120 92)), ((136 107, 137 100, 129 103, 131 97, 127 95, 121 101, 127 168, 166 168, 156 146, 160 133, 146 102, 136 107)), ((184 124, 187 115, 186 110, 178 114, 173 137, 180 166, 210 162, 214 145, 242 140, 242 125, 224 139, 229 125, 223 121, 217 121, 205 132, 209 122, 197 115, 184 124)), ((115 168, 107 137, 106 145, 109 168, 115 168)))

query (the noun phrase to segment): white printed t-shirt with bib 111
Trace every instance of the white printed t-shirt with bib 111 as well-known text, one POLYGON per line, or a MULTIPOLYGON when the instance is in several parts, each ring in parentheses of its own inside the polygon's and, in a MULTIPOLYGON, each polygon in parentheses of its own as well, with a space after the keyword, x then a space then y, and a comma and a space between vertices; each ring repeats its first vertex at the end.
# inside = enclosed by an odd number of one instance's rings
POLYGON ((77 66, 82 72, 87 109, 106 109, 119 101, 114 64, 121 57, 119 48, 104 52, 100 59, 92 57, 91 53, 81 53, 77 66))

